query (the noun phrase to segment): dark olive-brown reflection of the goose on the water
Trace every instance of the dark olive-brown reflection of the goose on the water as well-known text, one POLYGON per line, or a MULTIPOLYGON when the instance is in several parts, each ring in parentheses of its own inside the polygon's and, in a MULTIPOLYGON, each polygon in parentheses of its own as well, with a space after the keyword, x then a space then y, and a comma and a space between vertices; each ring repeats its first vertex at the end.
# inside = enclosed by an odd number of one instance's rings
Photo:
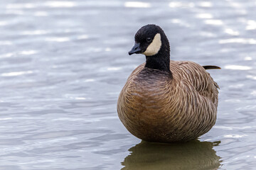
POLYGON ((195 140, 159 144, 142 141, 129 149, 132 153, 122 162, 122 170, 218 169, 220 157, 213 146, 219 143, 195 140))

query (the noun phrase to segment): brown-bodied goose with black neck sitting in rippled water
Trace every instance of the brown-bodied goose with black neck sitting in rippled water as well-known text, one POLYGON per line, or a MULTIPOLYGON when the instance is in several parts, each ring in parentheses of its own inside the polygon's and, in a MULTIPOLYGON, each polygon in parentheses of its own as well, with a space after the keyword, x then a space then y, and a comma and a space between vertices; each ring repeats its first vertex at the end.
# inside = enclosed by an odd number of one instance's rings
POLYGON ((119 94, 117 113, 124 127, 147 142, 187 142, 208 132, 216 121, 218 84, 206 69, 190 61, 170 60, 164 30, 140 28, 129 55, 142 54, 140 64, 119 94))

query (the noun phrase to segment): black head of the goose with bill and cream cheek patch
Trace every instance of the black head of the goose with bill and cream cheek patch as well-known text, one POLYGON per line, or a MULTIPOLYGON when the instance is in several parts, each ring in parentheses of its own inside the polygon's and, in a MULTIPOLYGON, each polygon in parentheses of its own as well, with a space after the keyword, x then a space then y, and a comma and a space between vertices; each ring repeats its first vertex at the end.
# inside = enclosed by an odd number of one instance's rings
POLYGON ((149 24, 140 28, 134 37, 135 44, 129 55, 134 53, 146 56, 158 55, 162 52, 169 53, 169 41, 164 30, 154 24, 149 24))

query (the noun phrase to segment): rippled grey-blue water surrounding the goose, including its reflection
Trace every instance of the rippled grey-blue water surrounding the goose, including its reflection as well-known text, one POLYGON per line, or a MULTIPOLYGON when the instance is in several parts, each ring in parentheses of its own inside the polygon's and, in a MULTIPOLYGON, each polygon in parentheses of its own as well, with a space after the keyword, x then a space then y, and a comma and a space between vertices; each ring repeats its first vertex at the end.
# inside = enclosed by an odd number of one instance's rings
POLYGON ((33 1, 0 4, 1 169, 256 169, 256 2, 33 1), (134 33, 161 26, 171 60, 213 64, 218 120, 198 141, 127 132, 119 91, 144 62, 134 33))

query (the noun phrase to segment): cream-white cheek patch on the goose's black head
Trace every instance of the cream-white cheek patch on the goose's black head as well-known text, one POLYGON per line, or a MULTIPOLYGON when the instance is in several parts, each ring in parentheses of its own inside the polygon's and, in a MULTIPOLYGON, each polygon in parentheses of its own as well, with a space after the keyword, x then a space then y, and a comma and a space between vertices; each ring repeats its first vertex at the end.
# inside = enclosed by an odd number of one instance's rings
POLYGON ((156 55, 157 52, 159 52, 160 48, 161 48, 161 35, 160 33, 157 33, 154 36, 154 40, 151 42, 149 47, 146 48, 146 51, 142 52, 142 54, 146 56, 156 55))

